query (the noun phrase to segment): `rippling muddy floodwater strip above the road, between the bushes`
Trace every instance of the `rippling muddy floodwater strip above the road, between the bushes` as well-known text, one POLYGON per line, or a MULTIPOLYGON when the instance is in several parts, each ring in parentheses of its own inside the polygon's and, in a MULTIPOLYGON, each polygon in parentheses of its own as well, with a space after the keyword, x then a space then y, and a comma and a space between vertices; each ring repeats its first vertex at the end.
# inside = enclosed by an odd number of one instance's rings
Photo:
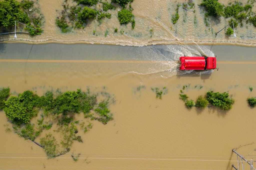
MULTIPOLYGON (((209 18, 209 27, 205 24, 205 10, 200 7, 201 0, 193 0, 195 3, 193 9, 184 10, 179 7, 179 20, 176 24, 172 23, 172 16, 175 15, 175 9, 178 4, 188 3, 186 0, 178 1, 160 1, 160 0, 134 0, 132 11, 135 17, 135 28, 131 29, 131 23, 120 25, 118 20, 118 11, 121 6, 116 5, 115 10, 110 10, 111 19, 104 19, 99 25, 97 20, 89 21, 84 29, 71 29, 69 33, 61 33, 60 28, 56 26, 56 18, 60 16, 63 10, 63 0, 43 1, 38 3, 45 16, 44 32, 41 35, 30 37, 27 34, 17 34, 14 39, 13 34, 1 35, 1 41, 26 42, 26 43, 91 43, 91 44, 115 44, 129 46, 145 46, 154 44, 233 44, 255 46, 256 27, 251 22, 243 26, 238 25, 235 28, 236 38, 233 35, 225 34, 226 29, 215 36, 215 33, 224 28, 230 18, 220 17, 209 18), (195 10, 195 12, 193 12, 195 10), (114 32, 117 28, 118 32, 114 32), (95 32, 94 32, 95 31, 95 32), (123 31, 123 34, 120 32, 123 31), (107 35, 105 35, 107 33, 107 35)), ((110 2, 110 1, 108 1, 110 2)), ((219 0, 220 3, 228 5, 233 1, 219 0)), ((253 5, 253 15, 256 11, 256 2, 241 0, 245 5, 253 5)), ((70 5, 76 5, 69 1, 70 5)), ((96 5, 100 9, 100 3, 96 5)), ((93 6, 94 7, 94 6, 93 6)), ((228 28, 228 27, 227 27, 228 28)))

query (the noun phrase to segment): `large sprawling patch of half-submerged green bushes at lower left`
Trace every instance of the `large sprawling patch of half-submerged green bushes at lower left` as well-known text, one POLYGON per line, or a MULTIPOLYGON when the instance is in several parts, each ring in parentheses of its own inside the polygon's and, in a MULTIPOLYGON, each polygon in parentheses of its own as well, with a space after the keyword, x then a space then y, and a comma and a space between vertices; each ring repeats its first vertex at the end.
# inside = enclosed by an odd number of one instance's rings
POLYGON ((69 152, 74 141, 83 142, 81 136, 76 136, 79 131, 77 126, 80 126, 84 133, 92 128, 90 122, 85 125, 83 121, 81 123, 78 120, 74 121, 73 114, 83 112, 85 118, 98 120, 103 124, 113 120, 109 105, 115 100, 106 92, 91 94, 89 88, 87 92, 78 89, 62 93, 57 90, 55 94, 47 91, 44 96, 39 97, 32 91, 26 90, 18 96, 8 97, 9 91, 9 88, 0 90, 1 109, 12 121, 15 132, 44 148, 49 158, 69 152), (99 96, 103 100, 98 103, 99 96), (36 123, 31 121, 35 120, 34 117, 37 117, 39 111, 42 111, 40 119, 37 119, 36 123), (54 122, 57 122, 55 134, 47 133, 45 137, 40 138, 40 144, 37 143, 35 139, 42 132, 51 129, 54 122), (56 135, 60 136, 61 141, 55 139, 56 135))

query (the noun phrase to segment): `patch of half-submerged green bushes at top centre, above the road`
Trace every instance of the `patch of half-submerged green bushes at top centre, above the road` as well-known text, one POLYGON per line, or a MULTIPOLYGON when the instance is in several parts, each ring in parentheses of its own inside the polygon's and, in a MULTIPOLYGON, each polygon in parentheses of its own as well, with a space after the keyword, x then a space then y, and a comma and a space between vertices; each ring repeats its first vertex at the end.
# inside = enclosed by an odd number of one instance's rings
MULTIPOLYGON (((70 0, 64 0, 62 6, 63 10, 60 16, 56 19, 56 25, 61 28, 63 33, 71 31, 72 28, 85 28, 89 21, 97 20, 99 25, 103 22, 104 18, 111 19, 112 15, 110 10, 114 10, 115 6, 107 2, 98 2, 95 0, 73 0, 77 5, 70 6, 70 0), (100 8, 96 4, 101 3, 100 8)), ((132 14, 133 8, 131 7, 132 0, 112 0, 122 6, 122 10, 118 11, 118 20, 120 24, 132 23, 132 29, 135 27, 134 15, 132 14), (129 4, 129 8, 128 8, 129 4), (128 9, 126 9, 126 7, 128 9)), ((99 26, 98 25, 98 26, 99 26)), ((117 31, 116 31, 117 32, 117 31)), ((94 35, 94 34, 93 34, 94 35)), ((105 33, 105 36, 107 34, 105 33)))

